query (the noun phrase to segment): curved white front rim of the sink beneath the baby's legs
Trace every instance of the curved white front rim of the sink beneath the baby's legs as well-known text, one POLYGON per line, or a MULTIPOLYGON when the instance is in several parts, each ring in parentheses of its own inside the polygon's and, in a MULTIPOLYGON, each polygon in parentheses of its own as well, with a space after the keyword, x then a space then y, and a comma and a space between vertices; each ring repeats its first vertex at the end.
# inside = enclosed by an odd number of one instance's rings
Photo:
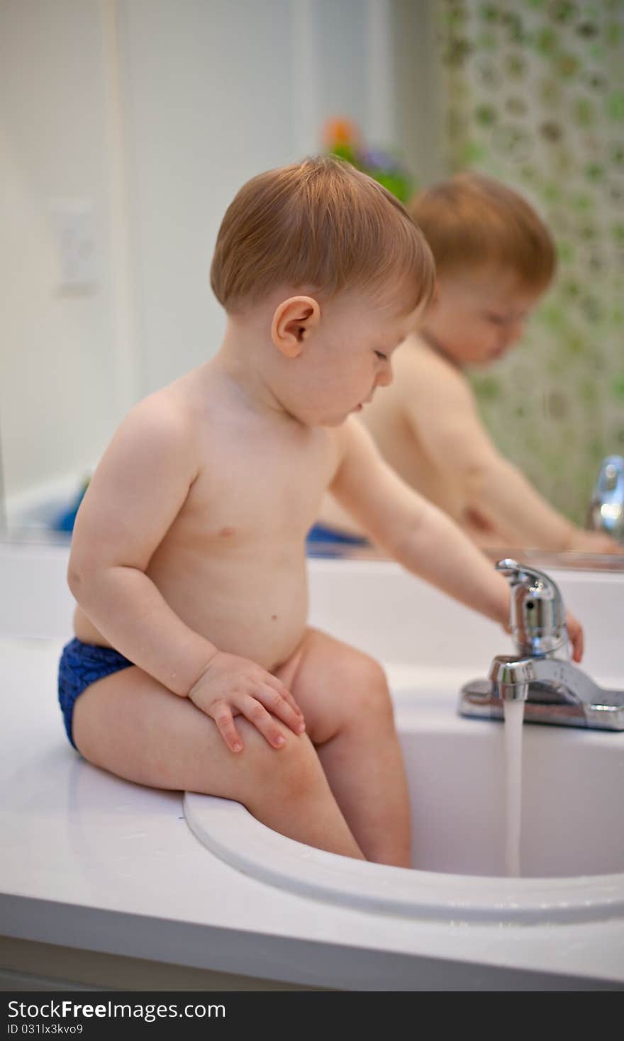
POLYGON ((624 872, 509 879, 390 867, 296 842, 231 799, 185 792, 182 805, 189 828, 210 853, 305 898, 447 923, 544 924, 624 915, 624 872))

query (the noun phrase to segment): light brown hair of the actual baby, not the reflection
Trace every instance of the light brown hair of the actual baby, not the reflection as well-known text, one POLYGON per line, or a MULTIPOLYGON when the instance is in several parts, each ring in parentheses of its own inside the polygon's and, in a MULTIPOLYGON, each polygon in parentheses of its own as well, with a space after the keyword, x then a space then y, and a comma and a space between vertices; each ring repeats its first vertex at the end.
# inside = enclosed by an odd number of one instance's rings
POLYGON ((349 162, 316 156, 247 181, 226 210, 210 269, 234 312, 279 285, 324 298, 359 288, 426 306, 434 263, 424 235, 390 192, 349 162))

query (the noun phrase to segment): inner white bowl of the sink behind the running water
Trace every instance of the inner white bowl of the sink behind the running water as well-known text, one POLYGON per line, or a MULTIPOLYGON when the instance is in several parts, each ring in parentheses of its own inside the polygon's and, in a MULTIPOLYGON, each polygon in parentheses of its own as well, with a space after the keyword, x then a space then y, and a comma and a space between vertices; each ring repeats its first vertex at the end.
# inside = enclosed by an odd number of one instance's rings
MULTIPOLYGON (((399 719, 415 867, 505 874, 503 723, 418 703, 399 719)), ((522 877, 624 872, 623 785, 624 734, 525 723, 522 877)))

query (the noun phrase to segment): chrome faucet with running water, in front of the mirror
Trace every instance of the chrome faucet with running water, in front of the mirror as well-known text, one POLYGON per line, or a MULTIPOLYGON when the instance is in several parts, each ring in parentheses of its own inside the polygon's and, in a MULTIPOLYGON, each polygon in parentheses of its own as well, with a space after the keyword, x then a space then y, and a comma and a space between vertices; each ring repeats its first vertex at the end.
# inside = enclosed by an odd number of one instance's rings
POLYGON ((516 655, 496 655, 488 680, 465 684, 461 715, 503 718, 504 701, 523 701, 526 722, 624 730, 624 690, 604 690, 570 661, 561 594, 548 575, 499 560, 511 586, 516 655))

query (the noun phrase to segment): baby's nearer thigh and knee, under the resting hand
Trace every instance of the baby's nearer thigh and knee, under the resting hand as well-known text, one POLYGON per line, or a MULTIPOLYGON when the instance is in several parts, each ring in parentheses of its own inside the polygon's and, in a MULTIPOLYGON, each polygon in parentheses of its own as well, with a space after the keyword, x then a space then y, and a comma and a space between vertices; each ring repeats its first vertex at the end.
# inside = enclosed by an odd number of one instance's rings
POLYGON ((276 720, 284 745, 275 750, 241 715, 234 717, 243 752, 226 746, 214 719, 136 666, 88 687, 76 701, 73 736, 96 766, 136 784, 198 791, 249 806, 257 792, 279 796, 309 785, 320 773, 309 740, 276 720))

